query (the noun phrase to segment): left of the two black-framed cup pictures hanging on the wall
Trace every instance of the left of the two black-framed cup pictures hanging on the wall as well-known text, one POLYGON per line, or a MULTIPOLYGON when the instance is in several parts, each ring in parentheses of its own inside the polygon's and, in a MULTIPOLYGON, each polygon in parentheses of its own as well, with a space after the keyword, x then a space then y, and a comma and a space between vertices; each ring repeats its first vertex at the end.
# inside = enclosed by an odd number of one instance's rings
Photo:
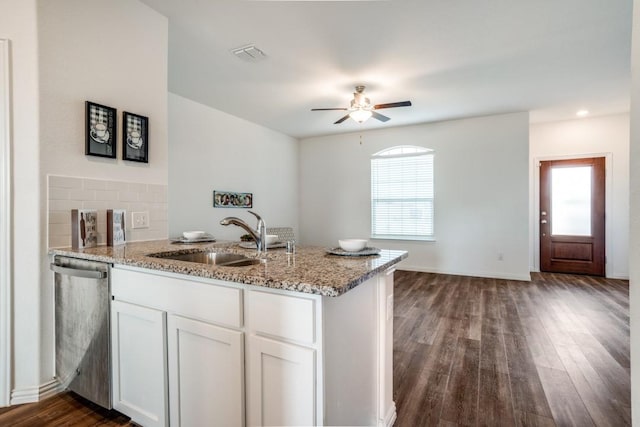
POLYGON ((116 109, 85 103, 85 146, 87 156, 116 157, 116 109))

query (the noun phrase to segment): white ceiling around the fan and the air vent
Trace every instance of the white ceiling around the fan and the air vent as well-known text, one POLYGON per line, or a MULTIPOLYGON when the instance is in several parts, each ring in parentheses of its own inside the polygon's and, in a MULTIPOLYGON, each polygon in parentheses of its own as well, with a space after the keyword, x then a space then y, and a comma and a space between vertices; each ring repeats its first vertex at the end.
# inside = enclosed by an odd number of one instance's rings
POLYGON ((169 18, 169 90, 294 137, 531 111, 629 110, 632 0, 142 0, 169 18), (254 43, 251 63, 233 48, 254 43), (333 122, 357 84, 386 123, 333 122))

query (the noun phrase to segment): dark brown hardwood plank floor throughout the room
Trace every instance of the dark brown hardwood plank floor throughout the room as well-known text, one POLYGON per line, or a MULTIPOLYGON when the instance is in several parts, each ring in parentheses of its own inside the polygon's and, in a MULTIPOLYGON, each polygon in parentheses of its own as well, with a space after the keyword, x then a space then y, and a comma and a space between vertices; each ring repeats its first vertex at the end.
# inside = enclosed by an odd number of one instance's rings
MULTIPOLYGON (((631 425, 629 286, 398 271, 397 427, 631 425)), ((0 409, 0 426, 129 426, 70 393, 0 409)))

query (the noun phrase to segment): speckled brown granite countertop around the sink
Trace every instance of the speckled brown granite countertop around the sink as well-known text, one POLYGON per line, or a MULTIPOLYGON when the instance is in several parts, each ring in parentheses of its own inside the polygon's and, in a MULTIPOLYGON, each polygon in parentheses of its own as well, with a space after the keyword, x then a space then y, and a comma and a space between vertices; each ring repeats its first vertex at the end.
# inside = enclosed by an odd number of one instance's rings
POLYGON ((378 255, 339 256, 327 254, 323 247, 297 246, 293 255, 286 254, 284 249, 269 249, 265 263, 246 267, 205 265, 149 256, 209 250, 258 257, 255 249, 243 249, 237 242, 178 244, 169 240, 133 242, 115 247, 51 249, 49 253, 331 297, 342 295, 408 256, 406 251, 387 249, 378 255))

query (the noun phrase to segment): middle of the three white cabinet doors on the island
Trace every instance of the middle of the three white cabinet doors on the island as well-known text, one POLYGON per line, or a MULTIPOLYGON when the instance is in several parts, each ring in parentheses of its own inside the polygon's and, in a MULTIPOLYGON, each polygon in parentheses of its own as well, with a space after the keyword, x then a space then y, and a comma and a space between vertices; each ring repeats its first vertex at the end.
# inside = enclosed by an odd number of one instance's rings
POLYGON ((244 425, 243 333, 169 315, 171 426, 244 425))

